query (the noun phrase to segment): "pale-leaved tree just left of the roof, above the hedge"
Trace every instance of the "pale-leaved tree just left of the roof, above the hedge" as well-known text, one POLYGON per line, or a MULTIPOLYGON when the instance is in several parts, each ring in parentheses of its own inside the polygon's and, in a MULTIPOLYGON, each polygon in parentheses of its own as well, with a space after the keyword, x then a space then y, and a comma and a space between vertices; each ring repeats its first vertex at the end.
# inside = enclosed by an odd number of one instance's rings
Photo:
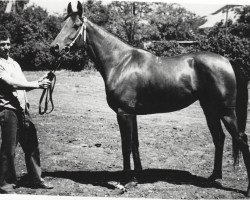
POLYGON ((156 27, 153 40, 194 40, 203 19, 178 4, 158 3, 150 24, 156 27))

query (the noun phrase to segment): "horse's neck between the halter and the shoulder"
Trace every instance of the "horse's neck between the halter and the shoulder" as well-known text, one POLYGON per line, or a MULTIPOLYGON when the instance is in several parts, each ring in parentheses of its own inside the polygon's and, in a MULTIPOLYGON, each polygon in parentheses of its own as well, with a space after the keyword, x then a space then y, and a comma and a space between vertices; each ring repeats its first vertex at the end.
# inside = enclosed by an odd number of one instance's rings
POLYGON ((117 37, 88 21, 87 23, 88 52, 93 62, 98 65, 103 78, 106 79, 113 67, 116 67, 131 46, 117 37))

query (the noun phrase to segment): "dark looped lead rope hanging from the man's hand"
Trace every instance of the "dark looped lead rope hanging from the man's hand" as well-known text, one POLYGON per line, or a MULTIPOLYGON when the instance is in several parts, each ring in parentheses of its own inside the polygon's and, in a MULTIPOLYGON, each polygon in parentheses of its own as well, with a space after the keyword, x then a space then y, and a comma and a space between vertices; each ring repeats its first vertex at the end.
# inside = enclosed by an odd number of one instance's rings
POLYGON ((54 110, 54 102, 53 102, 52 95, 53 95, 53 91, 54 91, 55 84, 56 84, 55 71, 60 66, 61 62, 62 62, 61 59, 57 60, 56 61, 57 66, 55 67, 54 70, 51 70, 47 75, 47 78, 51 81, 51 85, 48 88, 43 89, 42 95, 40 97, 40 100, 39 100, 39 114, 40 115, 43 115, 45 113, 49 114, 54 110), (42 110, 43 102, 44 102, 44 109, 42 110), (49 103, 51 104, 50 111, 48 111, 49 103))

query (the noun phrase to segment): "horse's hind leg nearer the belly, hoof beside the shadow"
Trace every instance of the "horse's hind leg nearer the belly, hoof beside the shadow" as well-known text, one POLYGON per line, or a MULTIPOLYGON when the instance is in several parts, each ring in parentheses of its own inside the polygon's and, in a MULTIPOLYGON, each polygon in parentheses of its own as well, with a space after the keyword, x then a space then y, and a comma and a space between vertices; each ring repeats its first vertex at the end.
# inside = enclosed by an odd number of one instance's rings
POLYGON ((212 175, 208 179, 210 181, 215 181, 216 179, 222 178, 222 158, 225 134, 222 130, 218 109, 204 105, 202 108, 215 145, 214 169, 212 175))

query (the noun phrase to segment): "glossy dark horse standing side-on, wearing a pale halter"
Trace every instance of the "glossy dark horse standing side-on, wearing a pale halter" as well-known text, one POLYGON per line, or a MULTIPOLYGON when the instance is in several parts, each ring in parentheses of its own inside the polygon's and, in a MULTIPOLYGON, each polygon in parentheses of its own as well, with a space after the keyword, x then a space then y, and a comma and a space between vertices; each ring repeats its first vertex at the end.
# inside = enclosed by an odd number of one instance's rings
MULTIPOLYGON (((210 181, 222 178, 225 134, 232 136, 233 156, 242 152, 250 180, 250 153, 245 134, 248 81, 237 67, 214 53, 190 53, 170 58, 157 57, 131 47, 83 17, 80 2, 73 12, 68 5, 65 25, 51 44, 52 54, 70 47, 85 48, 105 83, 107 102, 117 113, 121 133, 124 170, 142 170, 136 115, 183 109, 199 100, 215 145, 214 170, 210 181)), ((248 184, 247 196, 250 196, 248 184)))

